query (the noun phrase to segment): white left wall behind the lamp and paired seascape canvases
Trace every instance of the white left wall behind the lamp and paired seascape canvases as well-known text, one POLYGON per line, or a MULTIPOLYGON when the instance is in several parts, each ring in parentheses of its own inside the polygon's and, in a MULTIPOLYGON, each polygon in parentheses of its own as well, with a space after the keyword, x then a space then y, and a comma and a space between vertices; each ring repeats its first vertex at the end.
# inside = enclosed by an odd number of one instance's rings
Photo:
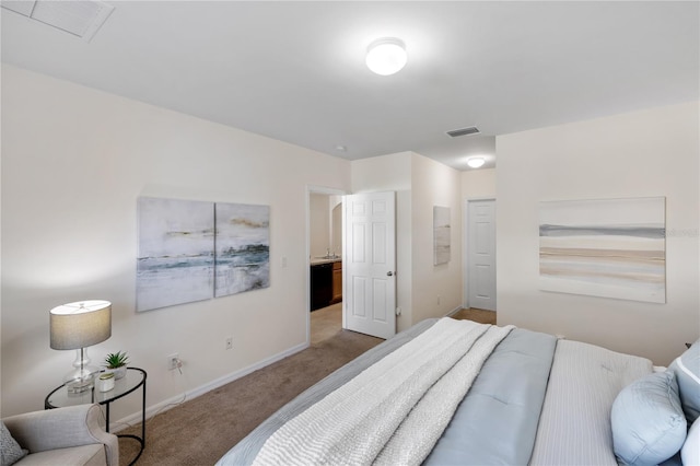
MULTIPOLYGON (((67 302, 112 301, 91 356, 128 351, 149 406, 303 348, 307 185, 349 190, 350 163, 3 63, 1 415, 42 409, 70 369, 48 335, 67 302), (139 196, 269 205, 270 288, 137 314, 139 196)), ((139 410, 130 398, 115 420, 139 410)))

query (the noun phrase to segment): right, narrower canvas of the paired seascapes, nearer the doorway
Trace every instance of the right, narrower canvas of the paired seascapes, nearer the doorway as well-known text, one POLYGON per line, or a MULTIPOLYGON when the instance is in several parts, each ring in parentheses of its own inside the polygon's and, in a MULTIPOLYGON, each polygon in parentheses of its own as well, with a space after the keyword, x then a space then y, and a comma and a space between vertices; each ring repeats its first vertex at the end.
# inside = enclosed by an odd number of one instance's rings
POLYGON ((217 203, 215 296, 270 286, 270 208, 217 203))

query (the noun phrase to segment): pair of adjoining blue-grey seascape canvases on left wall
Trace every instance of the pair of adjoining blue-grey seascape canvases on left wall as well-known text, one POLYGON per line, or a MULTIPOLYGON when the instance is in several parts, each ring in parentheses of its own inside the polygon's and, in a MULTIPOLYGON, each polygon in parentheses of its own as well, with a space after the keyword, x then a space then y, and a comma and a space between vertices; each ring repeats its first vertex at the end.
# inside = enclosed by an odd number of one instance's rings
POLYGON ((270 208, 139 198, 137 311, 270 286, 270 208))

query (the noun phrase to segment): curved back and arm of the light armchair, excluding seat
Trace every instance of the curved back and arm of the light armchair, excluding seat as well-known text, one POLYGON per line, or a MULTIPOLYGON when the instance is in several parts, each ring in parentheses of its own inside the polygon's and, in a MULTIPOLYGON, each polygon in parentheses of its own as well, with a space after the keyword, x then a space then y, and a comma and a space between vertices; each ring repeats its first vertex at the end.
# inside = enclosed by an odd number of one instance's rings
POLYGON ((107 464, 117 466, 119 442, 116 435, 100 426, 102 418, 98 405, 79 405, 26 412, 2 421, 14 440, 30 453, 103 443, 107 464))

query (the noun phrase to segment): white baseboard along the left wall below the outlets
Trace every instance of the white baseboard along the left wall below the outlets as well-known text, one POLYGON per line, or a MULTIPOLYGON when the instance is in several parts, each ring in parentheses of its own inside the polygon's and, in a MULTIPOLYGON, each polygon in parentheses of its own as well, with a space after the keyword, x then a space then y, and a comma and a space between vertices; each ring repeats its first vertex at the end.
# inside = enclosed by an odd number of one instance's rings
MULTIPOLYGON (((292 347, 285 351, 282 351, 280 353, 277 353, 275 356, 271 356, 267 359, 264 359, 261 361, 256 362, 255 364, 248 365, 247 368, 241 369, 238 371, 232 372, 231 374, 224 375, 222 377, 219 378, 214 378, 213 381, 206 383, 203 385, 200 385, 196 388, 192 388, 190 391, 185 392, 185 398, 184 399, 194 399, 197 398, 200 395, 203 395, 206 393, 211 392, 212 389, 219 388, 220 386, 223 386, 228 383, 231 383, 235 380, 238 380, 245 375, 248 375, 252 372, 257 371, 258 369, 262 369, 267 365, 272 364, 273 362, 277 362, 281 359, 284 359, 287 357, 290 357, 292 354, 295 354, 302 350, 305 350, 306 348, 308 348, 310 345, 308 343, 301 343, 301 345, 296 345, 295 347, 292 347)), ((179 405, 183 400, 183 395, 177 395, 174 396, 172 398, 165 399, 156 405, 153 406, 149 406, 145 408, 145 419, 150 419, 153 416, 155 416, 156 413, 160 412, 164 412, 167 411, 168 409, 179 405)), ((139 423, 141 422, 141 412, 135 412, 132 415, 127 416, 124 419, 119 419, 116 422, 110 422, 109 423, 109 432, 118 432, 122 429, 126 429, 127 427, 135 424, 135 423, 139 423)))

